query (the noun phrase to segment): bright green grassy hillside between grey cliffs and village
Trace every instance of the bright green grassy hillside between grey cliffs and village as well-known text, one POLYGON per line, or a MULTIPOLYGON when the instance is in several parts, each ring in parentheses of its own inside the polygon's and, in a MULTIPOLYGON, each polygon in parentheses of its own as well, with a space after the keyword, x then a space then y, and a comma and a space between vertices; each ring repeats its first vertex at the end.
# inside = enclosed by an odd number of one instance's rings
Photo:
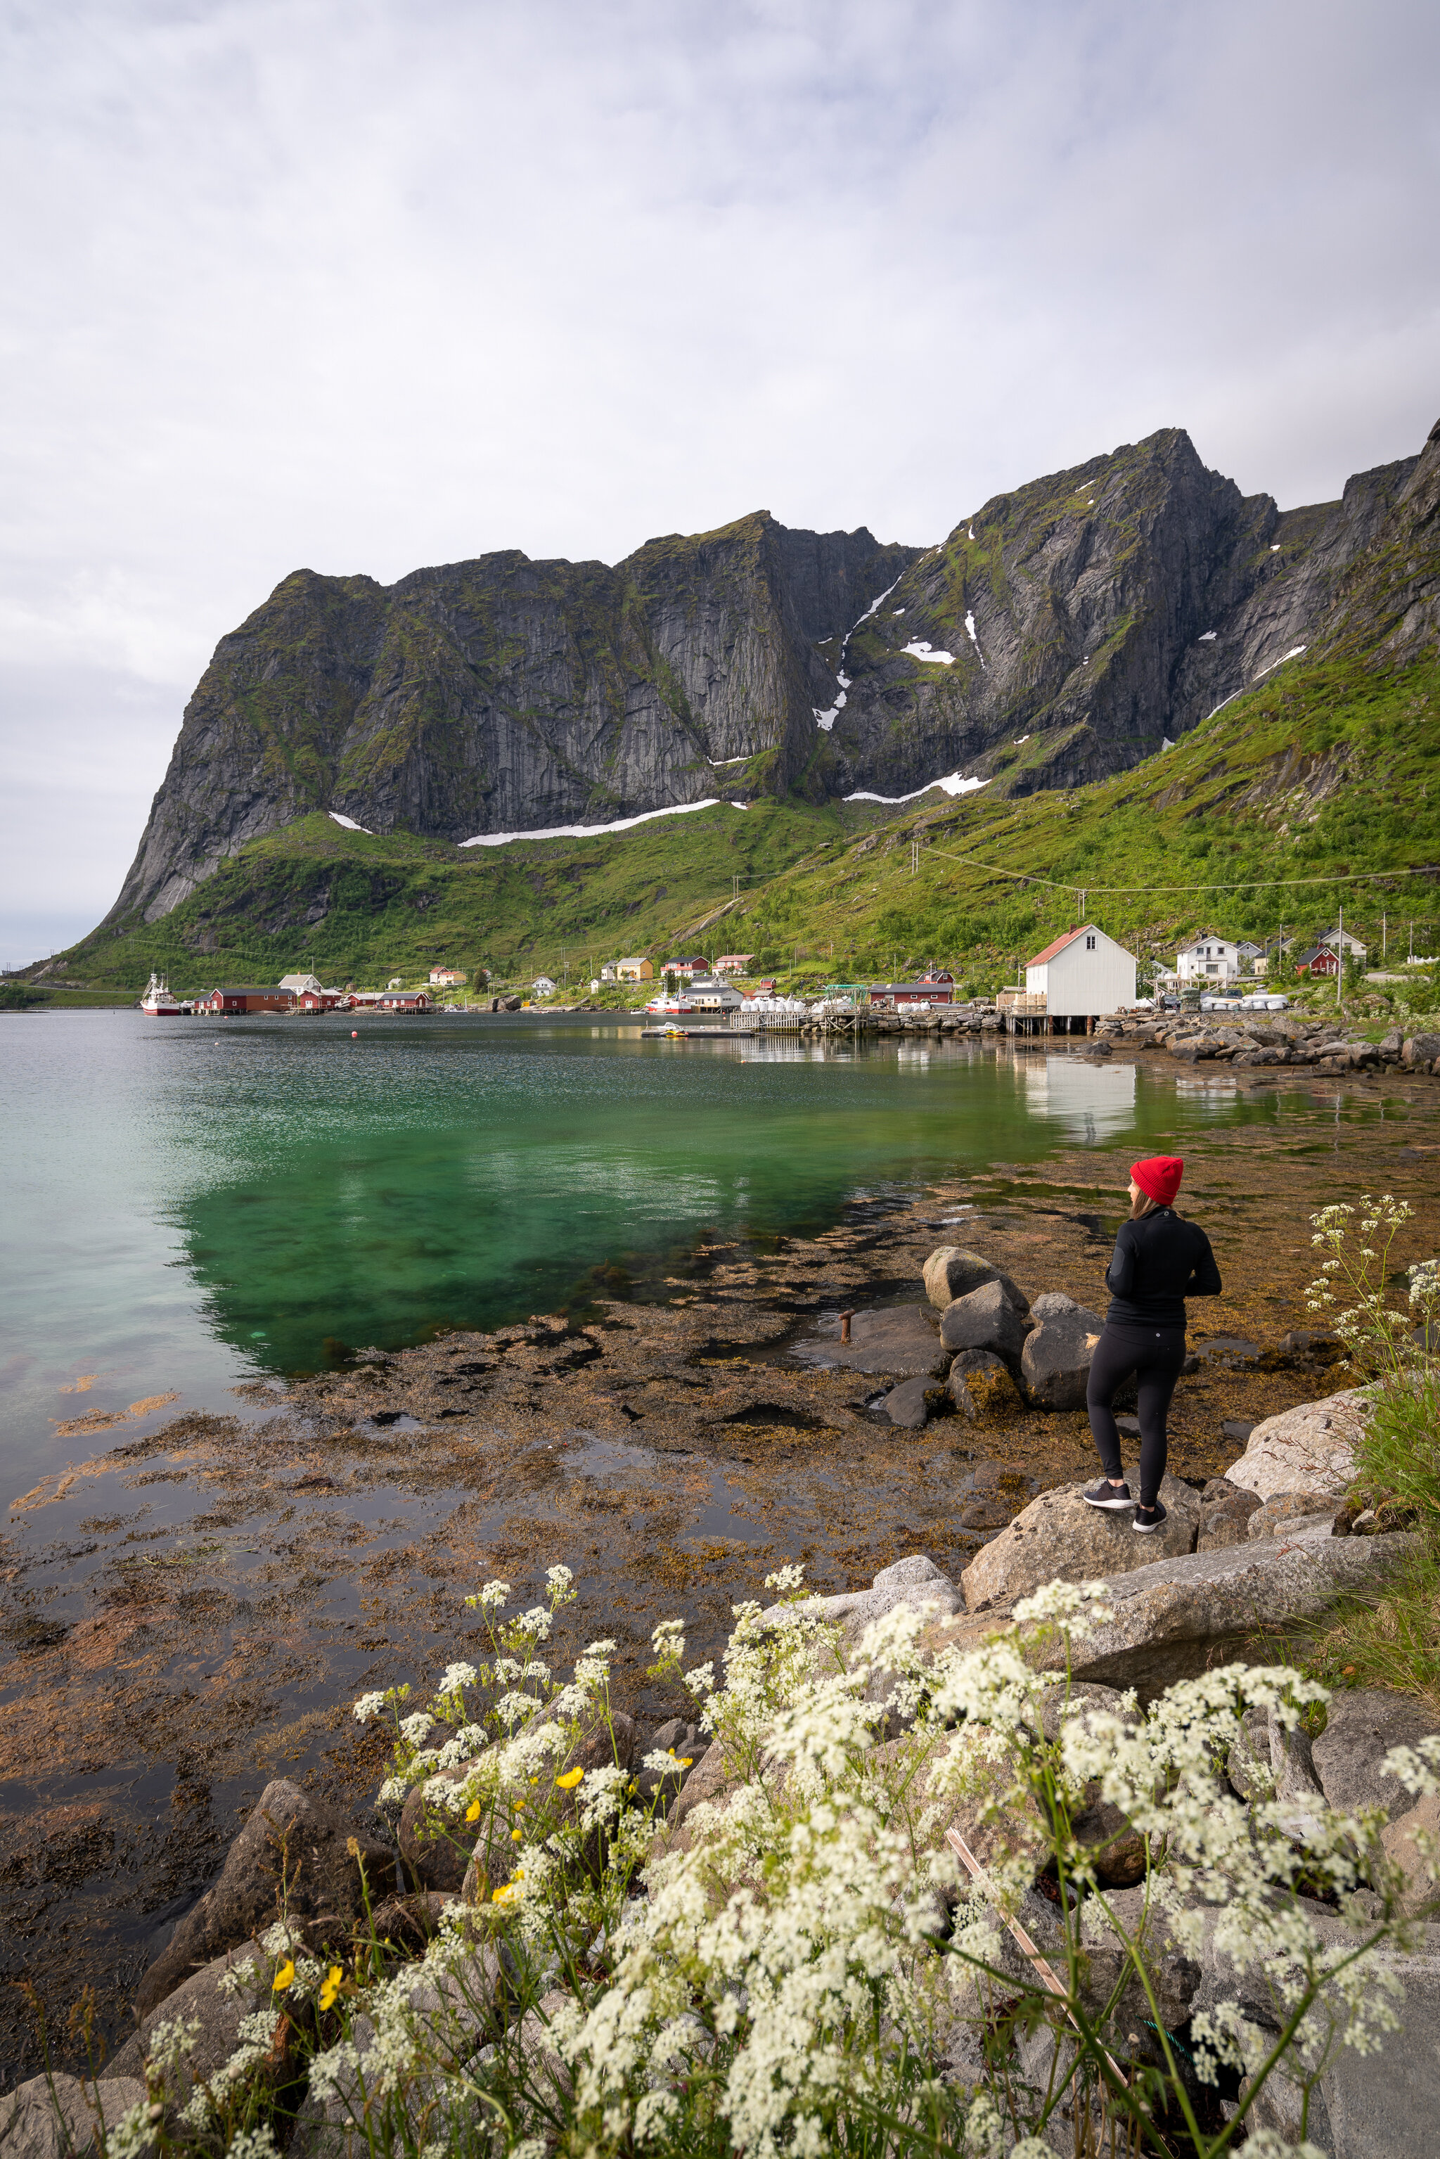
MULTIPOLYGON (((326 816, 250 844, 184 907, 63 954, 60 980, 177 991, 274 980, 412 980, 434 963, 525 982, 602 959, 751 950, 794 980, 943 961, 976 989, 1084 913, 1136 950, 1205 926, 1304 935, 1334 920, 1380 956, 1440 946, 1440 667, 1291 661, 1174 749, 1077 788, 997 801, 756 801, 589 840, 458 851, 326 816), (965 859, 969 857, 969 859, 965 859), (1375 870, 1431 874, 1304 885, 1375 870), (738 879, 738 887, 736 887, 738 879), (1049 881, 1049 883, 1047 883, 1049 881), (1220 890, 1220 887, 1250 890, 1220 890), (1064 890, 1056 890, 1064 887, 1064 890), (1105 887, 1164 887, 1112 892, 1105 887)), ((54 980, 54 976, 50 976, 54 980)))

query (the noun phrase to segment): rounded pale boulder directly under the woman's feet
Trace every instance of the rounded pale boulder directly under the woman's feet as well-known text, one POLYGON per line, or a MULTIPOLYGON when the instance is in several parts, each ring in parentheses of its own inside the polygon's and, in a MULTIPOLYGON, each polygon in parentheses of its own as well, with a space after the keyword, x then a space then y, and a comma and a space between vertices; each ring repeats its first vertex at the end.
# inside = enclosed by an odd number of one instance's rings
POLYGON ((1179 1477, 1166 1472, 1159 1498, 1168 1518, 1146 1537, 1136 1535, 1129 1513, 1088 1507, 1084 1492, 1084 1483, 1041 1492, 1008 1529, 982 1544, 961 1576, 965 1608, 993 1611, 1028 1598, 1041 1583, 1090 1583, 1194 1550, 1200 1494, 1179 1477))

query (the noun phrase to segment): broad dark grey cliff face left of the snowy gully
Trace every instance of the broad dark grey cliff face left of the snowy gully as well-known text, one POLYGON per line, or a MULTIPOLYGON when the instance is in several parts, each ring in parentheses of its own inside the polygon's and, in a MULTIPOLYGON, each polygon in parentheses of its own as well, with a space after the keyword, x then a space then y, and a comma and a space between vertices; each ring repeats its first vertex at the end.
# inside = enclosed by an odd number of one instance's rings
POLYGON ((769 786, 814 745, 814 637, 915 548, 766 512, 617 568, 520 553, 382 587, 296 570, 220 639, 108 920, 153 922, 309 810, 468 840, 769 786))

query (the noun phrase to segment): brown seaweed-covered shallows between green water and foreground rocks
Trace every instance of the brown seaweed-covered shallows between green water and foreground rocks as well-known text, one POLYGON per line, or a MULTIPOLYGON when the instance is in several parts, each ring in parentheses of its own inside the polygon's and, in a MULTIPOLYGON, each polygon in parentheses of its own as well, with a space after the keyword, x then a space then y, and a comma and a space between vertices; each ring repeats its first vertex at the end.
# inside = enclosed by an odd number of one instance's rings
MULTIPOLYGON (((1282 1125, 1187 1133, 1183 1207, 1226 1293, 1192 1306, 1177 1475, 1235 1459, 1226 1418, 1345 1384, 1280 1354, 1315 1326, 1315 1207, 1390 1190, 1416 1207, 1399 1263, 1440 1248, 1434 1097, 1326 1088, 1289 1097, 1282 1125), (1259 1358, 1207 1356, 1218 1336, 1259 1358)), ((553 1660, 613 1637, 617 1706, 658 1721, 682 1706, 646 1678, 658 1619, 684 1617, 699 1662, 782 1561, 825 1591, 915 1550, 959 1574, 1036 1490, 1086 1475, 1082 1412, 896 1431, 881 1375, 823 1360, 840 1311, 922 1302, 937 1244, 1103 1308, 1125 1159, 1075 1149, 857 1198, 814 1239, 702 1241, 665 1302, 447 1334, 289 1388, 255 1380, 235 1414, 184 1414, 89 1459, 78 1434, 71 1468, 11 1509, 2 1561, 6 1963, 37 1982, 58 2055, 84 1986, 119 2029, 268 1777, 363 1814, 382 1736, 352 1723, 352 1697, 462 1656, 477 1634, 462 1600, 486 1578, 529 1600, 566 1561, 581 1598, 553 1660)), ((19 1995, 6 2017, 9 2083, 37 2045, 19 1995)))

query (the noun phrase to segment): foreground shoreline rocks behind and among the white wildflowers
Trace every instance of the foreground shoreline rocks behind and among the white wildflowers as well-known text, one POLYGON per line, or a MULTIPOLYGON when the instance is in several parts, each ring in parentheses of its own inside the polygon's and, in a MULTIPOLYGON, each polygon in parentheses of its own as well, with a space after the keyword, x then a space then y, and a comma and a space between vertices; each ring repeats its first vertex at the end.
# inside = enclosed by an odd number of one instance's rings
MULTIPOLYGON (((1200 1494, 1168 1479, 1174 1546, 1168 1557, 1151 1557, 1127 1535, 1123 1520, 1088 1509, 1077 1483, 1023 1507, 1006 1531, 978 1550, 959 1580, 928 1554, 907 1554, 883 1567, 866 1589, 812 1598, 801 1611, 838 1626, 848 1654, 859 1656, 877 1619, 913 1608, 924 1621, 924 1660, 1015 1632, 1017 1602, 1041 1583, 1082 1583, 1099 1574, 1116 1606, 1114 1617, 1079 1643, 1054 1637, 1025 1654, 1038 1658, 1041 1671, 1067 1675, 1067 1695, 1079 1697, 1086 1714, 1097 1708, 1123 1712, 1116 1688, 1138 1688, 1144 1706, 1177 1680, 1244 1652, 1261 1615, 1269 1626, 1313 1619, 1336 1596, 1382 1585, 1418 1544, 1405 1531, 1356 1535, 1354 1518, 1336 1505, 1362 1414, 1362 1397, 1334 1395, 1256 1425, 1226 1477, 1213 1479, 1200 1494)), ((762 1613, 766 1621, 786 1624, 786 1606, 762 1613)), ((915 1719, 913 1708, 896 1708, 907 1699, 896 1684, 883 1667, 870 1669, 861 1697, 874 1703, 892 1740, 915 1719)), ((1380 1809, 1382 1818, 1388 1816, 1384 1855, 1412 1885, 1414 1909, 1427 1911, 1434 1885, 1425 1852, 1436 1829, 1436 1801, 1414 1803, 1384 1762, 1393 1747, 1414 1747, 1434 1721, 1423 1706, 1375 1690, 1339 1697, 1319 1740, 1276 1721, 1274 1712, 1256 1712, 1231 1751, 1231 1788, 1248 1803, 1280 1798, 1295 1807, 1310 1801, 1347 1811, 1380 1809)), ((708 1818, 695 1809, 723 1803, 745 1781, 728 1747, 710 1742, 682 1719, 643 1734, 635 1716, 615 1712, 602 1729, 583 1734, 566 1762, 574 1762, 576 1773, 592 1773, 611 1755, 620 1770, 635 1773, 628 1785, 635 1803, 658 1803, 656 1820, 665 1827, 656 1850, 665 1852, 687 1850, 695 1824, 708 1818), (641 1770, 656 1755, 667 1755, 674 1770, 641 1770)), ((266 1954, 276 1913, 287 1926, 289 1956, 304 1950, 322 1965, 348 1960, 354 1945, 369 1954, 376 1941, 386 1945, 391 1960, 404 1963, 421 1956, 443 1926, 460 1924, 464 1939, 466 1913, 479 1930, 484 1902, 494 1878, 503 1880, 510 1872, 510 1859, 488 1852, 488 1818, 466 1827, 477 1807, 464 1818, 440 1814, 436 1822, 443 1788, 460 1790, 464 1779, 466 1764, 438 1779, 421 1779, 389 1816, 356 1820, 294 1781, 274 1779, 231 1844, 218 1878, 147 1971, 136 1993, 134 2029, 104 2075, 91 2081, 35 2077, 2 2103, 11 2159, 60 2159, 65 2146, 56 2116, 78 2155, 93 2150, 97 2118, 114 2124, 127 2109, 147 2103, 147 2077, 153 2081, 155 2062, 164 2062, 164 2034, 184 2021, 194 2038, 184 2090, 173 2099, 179 2118, 181 2099, 216 2079, 242 2047, 246 2014, 255 2017, 266 2004, 263 1980, 257 1982, 255 1973, 276 1963, 274 1954, 266 1954)), ((954 1824, 980 1855, 995 1850, 1000 1831, 989 1814, 961 1803, 954 1824)), ((1010 1842, 1019 1829, 1019 1822, 1010 1827, 1010 1842)), ((1090 1814, 1079 1816, 1077 1835, 1099 1852, 1099 1880, 1112 1898, 1144 1878, 1144 1839, 1129 1831, 1114 1805, 1097 1801, 1090 1814)), ((1045 1941, 1054 1917, 1038 1891, 1045 1891, 1043 1874, 1025 1898, 1032 1906, 1025 1909, 1025 1926, 1045 1941)), ((1416 1928, 1412 1950, 1416 1945, 1421 1954, 1405 1960, 1408 2027, 1423 2040, 1440 2023, 1440 1926, 1416 1928)), ((1185 1947, 1161 1945, 1157 1986, 1172 2025, 1185 2029, 1207 1986, 1213 1991, 1222 1980, 1224 1969, 1211 1969, 1207 1958, 1196 1963, 1185 1947)), ((501 1993, 490 1982, 486 1988, 503 2021, 501 1993)), ((974 2066, 978 2062, 946 2073, 974 2066)), ((1291 2090, 1280 2079, 1263 2096, 1256 2122, 1293 2131, 1287 2118, 1291 2090)), ((1416 2140, 1416 2124, 1434 2118, 1438 2101, 1440 2073, 1425 2045, 1408 2049, 1399 2081, 1393 2073, 1377 2079, 1364 2055, 1343 2053, 1313 2101, 1313 2133, 1323 2118, 1326 2148, 1334 2159, 1418 2155, 1425 2144, 1416 2140)), ((287 2144, 291 2155, 322 2159, 352 2148, 345 2105, 326 2103, 324 2094, 320 2101, 298 2099, 287 2144)))

